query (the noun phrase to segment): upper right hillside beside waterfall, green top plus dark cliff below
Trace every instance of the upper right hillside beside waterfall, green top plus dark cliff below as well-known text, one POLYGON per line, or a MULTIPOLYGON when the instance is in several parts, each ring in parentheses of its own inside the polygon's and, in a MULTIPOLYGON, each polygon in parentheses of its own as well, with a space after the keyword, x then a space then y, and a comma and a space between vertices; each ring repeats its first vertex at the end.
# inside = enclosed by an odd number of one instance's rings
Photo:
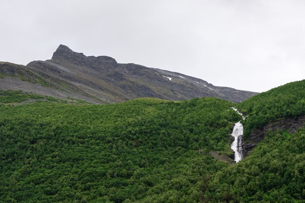
POLYGON ((263 92, 237 105, 247 115, 243 148, 247 155, 264 139, 267 131, 293 133, 305 122, 305 80, 263 92))

